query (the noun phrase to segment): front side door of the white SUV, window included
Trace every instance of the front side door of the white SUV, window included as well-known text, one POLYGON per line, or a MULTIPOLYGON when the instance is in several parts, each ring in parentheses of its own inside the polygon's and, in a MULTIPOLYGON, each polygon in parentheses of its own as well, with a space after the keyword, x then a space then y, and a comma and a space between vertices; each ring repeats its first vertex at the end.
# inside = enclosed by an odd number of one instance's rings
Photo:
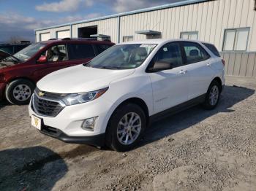
POLYGON ((161 47, 152 64, 156 62, 171 63, 172 69, 148 73, 152 82, 155 114, 187 101, 189 81, 178 42, 161 47))

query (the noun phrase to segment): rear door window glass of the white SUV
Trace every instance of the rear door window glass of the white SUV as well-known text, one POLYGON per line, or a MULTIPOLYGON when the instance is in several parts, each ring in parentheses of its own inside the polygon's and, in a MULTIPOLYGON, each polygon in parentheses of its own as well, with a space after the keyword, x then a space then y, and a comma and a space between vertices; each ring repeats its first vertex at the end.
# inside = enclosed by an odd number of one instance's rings
POLYGON ((187 63, 196 63, 210 58, 206 50, 195 42, 182 42, 187 57, 187 63))

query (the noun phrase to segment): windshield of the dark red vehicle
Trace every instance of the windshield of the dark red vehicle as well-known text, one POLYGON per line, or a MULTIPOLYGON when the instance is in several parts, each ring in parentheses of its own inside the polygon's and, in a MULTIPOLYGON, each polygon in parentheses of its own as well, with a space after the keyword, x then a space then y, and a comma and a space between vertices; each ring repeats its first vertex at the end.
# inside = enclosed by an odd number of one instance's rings
POLYGON ((43 47, 45 47, 45 43, 35 43, 29 45, 29 47, 24 48, 23 50, 20 50, 15 55, 13 55, 15 58, 18 58, 20 61, 27 61, 29 58, 31 58, 33 55, 35 55, 38 50, 41 50, 43 47))

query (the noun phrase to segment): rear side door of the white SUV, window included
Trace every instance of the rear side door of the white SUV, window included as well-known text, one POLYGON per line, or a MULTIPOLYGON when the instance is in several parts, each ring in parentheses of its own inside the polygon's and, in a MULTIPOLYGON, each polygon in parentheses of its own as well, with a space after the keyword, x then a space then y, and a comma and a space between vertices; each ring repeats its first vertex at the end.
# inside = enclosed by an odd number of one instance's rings
POLYGON ((203 95, 214 77, 210 55, 197 42, 181 42, 189 75, 189 100, 203 95))

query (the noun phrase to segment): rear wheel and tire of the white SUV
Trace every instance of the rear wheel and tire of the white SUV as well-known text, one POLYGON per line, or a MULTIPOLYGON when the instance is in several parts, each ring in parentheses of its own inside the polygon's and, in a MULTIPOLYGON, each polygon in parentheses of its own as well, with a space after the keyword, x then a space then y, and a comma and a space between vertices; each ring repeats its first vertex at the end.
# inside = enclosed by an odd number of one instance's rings
POLYGON ((219 103, 219 95, 221 93, 221 87, 219 82, 214 80, 211 82, 211 85, 208 87, 206 93, 206 99, 203 103, 205 109, 214 109, 219 103))

